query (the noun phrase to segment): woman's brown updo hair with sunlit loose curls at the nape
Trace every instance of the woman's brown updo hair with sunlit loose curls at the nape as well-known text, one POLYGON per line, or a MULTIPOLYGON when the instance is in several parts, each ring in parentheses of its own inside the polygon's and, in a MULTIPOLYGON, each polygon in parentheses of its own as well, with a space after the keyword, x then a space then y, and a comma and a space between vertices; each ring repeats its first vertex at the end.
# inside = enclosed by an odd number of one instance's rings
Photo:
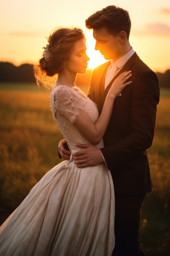
POLYGON ((60 28, 49 36, 39 65, 33 67, 39 86, 53 87, 58 72, 64 67, 65 60, 70 57, 75 42, 80 39, 85 40, 85 36, 82 29, 78 28, 60 28))

